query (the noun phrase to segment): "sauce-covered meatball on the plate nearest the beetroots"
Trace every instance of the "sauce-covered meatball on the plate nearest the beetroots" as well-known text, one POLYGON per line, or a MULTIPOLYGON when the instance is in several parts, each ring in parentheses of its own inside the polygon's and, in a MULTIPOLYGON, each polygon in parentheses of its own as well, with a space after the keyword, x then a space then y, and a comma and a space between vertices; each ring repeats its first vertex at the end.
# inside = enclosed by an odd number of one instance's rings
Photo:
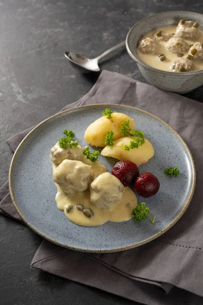
POLYGON ((90 186, 90 201, 97 207, 108 208, 122 199, 124 186, 109 172, 99 175, 90 186))

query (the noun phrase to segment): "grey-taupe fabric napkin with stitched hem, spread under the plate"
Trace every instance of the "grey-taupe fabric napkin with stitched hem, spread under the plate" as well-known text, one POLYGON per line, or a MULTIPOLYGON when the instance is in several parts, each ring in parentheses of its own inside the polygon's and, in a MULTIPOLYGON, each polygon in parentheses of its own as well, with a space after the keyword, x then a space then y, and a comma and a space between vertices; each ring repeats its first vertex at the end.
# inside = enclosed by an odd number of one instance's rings
MULTIPOLYGON (((149 111, 183 137, 196 165, 193 199, 178 223, 147 245, 124 252, 88 254, 44 240, 31 266, 145 304, 180 304, 184 300, 187 304, 202 304, 203 104, 103 71, 88 94, 62 110, 99 103, 130 105, 149 111)), ((32 128, 7 140, 13 151, 32 128)), ((8 182, 0 189, 0 201, 4 214, 22 221, 11 201, 8 182)))

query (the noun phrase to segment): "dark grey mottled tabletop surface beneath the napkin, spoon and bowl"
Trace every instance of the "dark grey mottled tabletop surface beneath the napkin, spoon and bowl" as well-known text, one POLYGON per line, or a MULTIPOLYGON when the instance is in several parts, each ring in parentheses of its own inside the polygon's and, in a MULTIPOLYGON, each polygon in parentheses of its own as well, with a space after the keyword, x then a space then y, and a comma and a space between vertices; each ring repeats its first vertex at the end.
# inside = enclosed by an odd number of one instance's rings
MULTIPOLYGON (((75 71, 64 51, 96 56, 124 40, 140 19, 170 10, 202 13, 202 0, 0 0, 0 186, 12 158, 6 139, 78 100, 98 77, 75 71)), ((145 82, 125 50, 100 67, 145 82)), ((186 96, 201 101, 202 93, 199 87, 186 96)), ((41 241, 0 215, 1 305, 133 303, 30 268, 41 241)))

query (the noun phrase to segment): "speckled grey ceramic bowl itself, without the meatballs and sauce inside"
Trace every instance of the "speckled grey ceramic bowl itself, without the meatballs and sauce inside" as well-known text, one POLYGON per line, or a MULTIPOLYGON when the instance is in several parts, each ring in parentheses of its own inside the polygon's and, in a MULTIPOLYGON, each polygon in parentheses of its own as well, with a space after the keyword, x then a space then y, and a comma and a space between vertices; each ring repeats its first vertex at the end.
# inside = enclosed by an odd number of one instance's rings
POLYGON ((197 21, 203 29, 203 15, 194 12, 172 11, 154 14, 134 24, 126 37, 126 49, 146 80, 163 90, 180 94, 188 93, 203 84, 203 70, 191 72, 167 72, 145 64, 137 54, 137 45, 141 35, 161 26, 177 25, 180 19, 197 21))

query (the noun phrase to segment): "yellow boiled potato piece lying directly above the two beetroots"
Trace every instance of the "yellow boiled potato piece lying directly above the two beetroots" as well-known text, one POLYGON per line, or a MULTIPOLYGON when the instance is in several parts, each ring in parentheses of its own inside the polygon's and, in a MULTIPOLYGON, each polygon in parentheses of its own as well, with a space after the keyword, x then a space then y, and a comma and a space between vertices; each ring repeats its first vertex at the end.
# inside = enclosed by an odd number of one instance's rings
POLYGON ((101 155, 118 160, 129 160, 136 163, 138 166, 147 163, 148 160, 154 156, 154 148, 147 139, 145 139, 145 143, 138 148, 124 150, 124 145, 129 145, 130 141, 132 141, 131 137, 120 138, 113 142, 113 146, 106 146, 101 150, 101 155))

